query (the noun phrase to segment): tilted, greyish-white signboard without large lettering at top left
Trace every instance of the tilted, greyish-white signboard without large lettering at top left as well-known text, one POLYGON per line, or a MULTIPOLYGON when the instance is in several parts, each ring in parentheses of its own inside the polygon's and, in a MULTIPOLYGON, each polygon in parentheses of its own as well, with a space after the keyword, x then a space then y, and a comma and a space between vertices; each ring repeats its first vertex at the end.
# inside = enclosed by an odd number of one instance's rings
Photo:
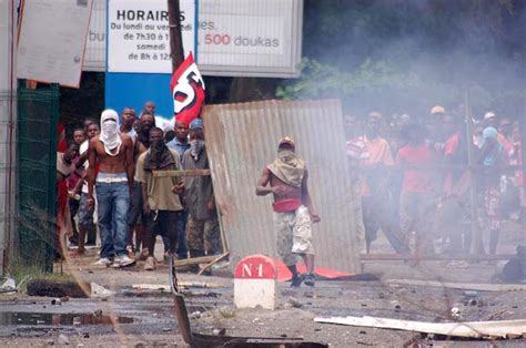
POLYGON ((17 78, 79 88, 92 0, 24 1, 17 78))

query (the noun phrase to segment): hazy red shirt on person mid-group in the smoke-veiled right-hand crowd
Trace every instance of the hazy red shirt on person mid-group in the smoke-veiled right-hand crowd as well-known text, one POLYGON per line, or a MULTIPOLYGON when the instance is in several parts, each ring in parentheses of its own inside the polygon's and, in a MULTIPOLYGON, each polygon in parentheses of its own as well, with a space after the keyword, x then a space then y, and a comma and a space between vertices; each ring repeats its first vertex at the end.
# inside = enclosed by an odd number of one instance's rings
POLYGON ((402 190, 405 192, 428 192, 431 188, 435 158, 427 144, 405 145, 396 154, 396 165, 404 170, 402 190))

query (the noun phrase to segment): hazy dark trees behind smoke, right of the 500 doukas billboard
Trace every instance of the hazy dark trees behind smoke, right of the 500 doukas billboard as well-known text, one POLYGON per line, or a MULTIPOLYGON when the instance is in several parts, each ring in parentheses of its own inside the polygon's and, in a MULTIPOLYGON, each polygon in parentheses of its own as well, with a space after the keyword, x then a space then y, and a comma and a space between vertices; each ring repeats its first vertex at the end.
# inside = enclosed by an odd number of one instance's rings
POLYGON ((302 75, 276 96, 340 98, 346 113, 456 109, 516 117, 525 93, 526 2, 305 0, 302 75))

